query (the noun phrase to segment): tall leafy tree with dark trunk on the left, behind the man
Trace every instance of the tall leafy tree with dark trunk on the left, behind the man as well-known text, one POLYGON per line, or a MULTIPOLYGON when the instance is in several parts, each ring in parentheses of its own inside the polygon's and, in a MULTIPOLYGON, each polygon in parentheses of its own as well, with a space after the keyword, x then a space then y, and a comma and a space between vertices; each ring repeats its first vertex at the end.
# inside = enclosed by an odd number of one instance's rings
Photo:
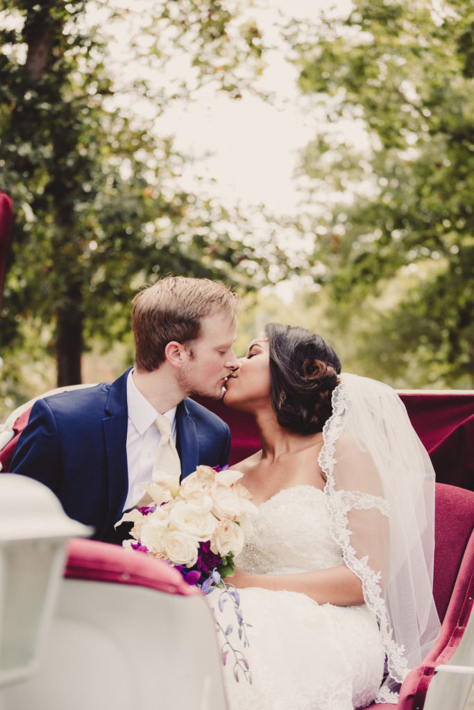
MULTIPOLYGON (((177 187, 184 158, 151 121, 124 110, 120 77, 112 81, 106 46, 85 22, 88 6, 92 0, 0 0, 0 189, 16 208, 0 341, 12 360, 36 331, 34 346, 55 352, 58 385, 80 382, 92 339, 128 331, 131 297, 144 283, 174 273, 246 290, 281 261, 265 245, 260 253, 249 246, 250 227, 237 211, 177 187)), ((199 77, 213 72, 227 91, 235 90, 232 68, 258 58, 247 27, 232 60, 231 16, 218 2, 153 1, 148 10, 156 36, 168 32, 168 48, 188 33, 199 77), (217 71, 210 57, 224 46, 217 71)), ((146 52, 163 63, 155 42, 146 52)), ((144 77, 132 84, 137 95, 155 97, 144 77)), ((170 97, 161 99, 157 112, 170 97)))

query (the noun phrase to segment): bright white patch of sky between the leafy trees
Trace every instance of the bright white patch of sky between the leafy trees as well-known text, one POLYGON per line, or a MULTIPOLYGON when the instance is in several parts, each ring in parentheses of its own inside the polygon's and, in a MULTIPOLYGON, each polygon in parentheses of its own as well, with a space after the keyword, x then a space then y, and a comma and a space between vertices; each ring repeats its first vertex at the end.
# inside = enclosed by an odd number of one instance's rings
MULTIPOLYGON (((350 9, 349 0, 338 0, 335 12, 350 9)), ((121 72, 129 78, 143 71, 133 63, 126 64, 124 46, 130 28, 137 28, 146 19, 146 1, 135 0, 131 11, 126 11, 123 0, 113 0, 109 6, 123 6, 124 20, 114 29, 110 49, 112 61, 117 61, 121 72), (143 10, 140 10, 140 5, 143 10), (134 68, 135 67, 135 68, 134 68)), ((210 192, 227 203, 244 205, 264 204, 272 213, 294 214, 298 209, 297 181, 293 177, 298 165, 298 151, 314 137, 318 126, 316 111, 309 108, 296 87, 297 70, 286 60, 278 24, 294 19, 316 21, 321 8, 328 9, 325 0, 262 0, 242 3, 242 14, 237 24, 249 19, 262 28, 264 42, 274 47, 266 55, 266 68, 257 86, 268 92, 273 100, 266 102, 259 96, 242 92, 242 98, 215 92, 215 87, 203 87, 191 102, 172 102, 156 120, 161 135, 174 135, 175 147, 196 158, 183 173, 183 186, 210 192)), ((100 21, 100 10, 90 13, 92 21, 100 21)), ((117 67, 116 67, 117 68, 117 67)), ((113 69, 113 67, 112 67, 113 69)), ((192 84, 193 72, 188 58, 175 56, 156 75, 156 84, 183 80, 192 84)), ((144 115, 154 109, 139 102, 134 107, 144 115)))

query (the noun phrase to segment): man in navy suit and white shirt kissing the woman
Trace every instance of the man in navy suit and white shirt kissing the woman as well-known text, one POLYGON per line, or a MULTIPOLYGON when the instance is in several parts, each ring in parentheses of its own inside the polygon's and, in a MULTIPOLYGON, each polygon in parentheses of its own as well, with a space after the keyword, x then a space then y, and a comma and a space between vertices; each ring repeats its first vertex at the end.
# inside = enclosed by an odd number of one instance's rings
POLYGON ((112 383, 37 400, 11 471, 51 488, 70 518, 95 528, 96 540, 122 542, 114 523, 159 468, 158 415, 171 426, 182 477, 198 464, 227 463, 229 427, 188 395, 220 398, 239 367, 232 350, 239 307, 235 293, 208 279, 168 277, 141 291, 132 312, 134 368, 112 383))

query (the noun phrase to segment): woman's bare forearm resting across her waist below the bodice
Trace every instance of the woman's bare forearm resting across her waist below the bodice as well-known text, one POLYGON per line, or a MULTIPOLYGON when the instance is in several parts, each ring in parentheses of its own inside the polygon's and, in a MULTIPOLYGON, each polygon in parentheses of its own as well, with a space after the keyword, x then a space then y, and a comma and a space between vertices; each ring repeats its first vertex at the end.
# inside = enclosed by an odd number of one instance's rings
POLYGON ((297 591, 319 604, 355 606, 365 603, 362 582, 344 564, 297 574, 247 574, 236 569, 234 577, 227 577, 226 581, 239 588, 259 586, 273 591, 297 591))

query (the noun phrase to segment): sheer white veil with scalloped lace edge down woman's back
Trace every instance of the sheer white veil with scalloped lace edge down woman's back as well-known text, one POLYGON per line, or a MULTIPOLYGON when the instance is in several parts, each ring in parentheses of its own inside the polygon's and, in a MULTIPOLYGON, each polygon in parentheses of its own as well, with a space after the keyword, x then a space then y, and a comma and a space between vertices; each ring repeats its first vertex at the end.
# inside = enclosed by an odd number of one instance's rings
POLYGON ((331 534, 377 617, 397 701, 406 673, 439 632, 433 601, 434 471, 402 400, 387 385, 343 374, 319 456, 331 534))

